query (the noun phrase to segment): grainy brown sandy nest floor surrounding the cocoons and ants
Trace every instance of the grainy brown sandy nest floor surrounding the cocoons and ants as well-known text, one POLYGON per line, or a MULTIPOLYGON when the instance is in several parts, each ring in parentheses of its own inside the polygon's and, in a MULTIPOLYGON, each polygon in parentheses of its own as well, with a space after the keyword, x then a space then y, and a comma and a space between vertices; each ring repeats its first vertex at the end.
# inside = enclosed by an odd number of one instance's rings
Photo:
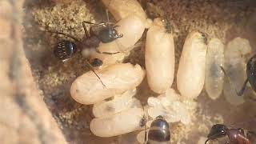
MULTIPOLYGON (((207 34, 208 38, 220 38, 226 43, 235 37, 247 38, 255 47, 255 2, 253 0, 141 0, 150 17, 166 14, 173 26, 175 43, 175 69, 186 35, 192 30, 207 34)), ((106 14, 101 2, 94 1, 31 1, 24 6, 24 47, 34 79, 49 110, 58 121, 66 139, 70 143, 125 143, 136 134, 126 134, 114 138, 98 138, 90 132, 91 106, 82 106, 70 97, 70 84, 88 67, 78 52, 68 62, 58 62, 53 55, 54 43, 63 38, 45 30, 56 30, 82 38, 82 21, 103 22, 106 14)), ((142 42, 145 37, 142 37, 142 42)), ((157 49, 156 49, 157 50, 157 49)), ((131 52, 126 62, 144 66, 144 47, 131 52)), ((174 79, 173 87, 176 88, 174 79)), ((138 87, 138 98, 143 104, 154 94, 146 80, 138 87)), ((210 126, 216 122, 232 124, 248 122, 256 115, 255 103, 247 101, 242 106, 231 106, 221 97, 210 100, 205 91, 198 97, 198 109, 190 126, 171 124, 174 143, 196 143, 200 136, 206 136, 210 126), (189 142, 186 142, 189 140, 189 142)), ((247 126, 250 126, 247 123, 247 126)), ((254 125, 255 126, 255 125, 254 125)), ((252 126, 250 126, 252 128, 252 126)), ((253 127, 256 129, 256 127, 253 127)), ((135 142, 135 140, 134 140, 135 142)))

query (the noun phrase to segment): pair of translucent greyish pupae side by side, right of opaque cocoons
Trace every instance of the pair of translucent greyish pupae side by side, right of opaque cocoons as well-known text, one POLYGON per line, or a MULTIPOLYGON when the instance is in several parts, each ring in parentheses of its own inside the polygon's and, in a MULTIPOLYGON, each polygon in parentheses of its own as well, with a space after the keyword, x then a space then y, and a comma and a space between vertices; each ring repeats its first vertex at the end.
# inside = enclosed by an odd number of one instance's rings
POLYGON ((234 38, 226 46, 217 38, 210 40, 206 54, 206 92, 210 98, 219 98, 223 90, 230 104, 245 102, 237 91, 246 81, 246 56, 250 53, 250 43, 244 38, 234 38))

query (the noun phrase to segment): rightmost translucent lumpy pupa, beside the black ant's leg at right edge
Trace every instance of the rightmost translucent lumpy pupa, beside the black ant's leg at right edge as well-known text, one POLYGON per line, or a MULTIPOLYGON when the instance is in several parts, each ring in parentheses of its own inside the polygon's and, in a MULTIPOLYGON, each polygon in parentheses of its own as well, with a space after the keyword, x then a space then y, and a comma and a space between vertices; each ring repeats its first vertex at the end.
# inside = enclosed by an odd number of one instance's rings
POLYGON ((251 47, 248 40, 234 38, 228 42, 225 49, 225 70, 228 77, 224 80, 224 96, 227 102, 240 105, 245 102, 243 96, 238 96, 235 90, 241 90, 246 81, 246 54, 250 54, 251 47))

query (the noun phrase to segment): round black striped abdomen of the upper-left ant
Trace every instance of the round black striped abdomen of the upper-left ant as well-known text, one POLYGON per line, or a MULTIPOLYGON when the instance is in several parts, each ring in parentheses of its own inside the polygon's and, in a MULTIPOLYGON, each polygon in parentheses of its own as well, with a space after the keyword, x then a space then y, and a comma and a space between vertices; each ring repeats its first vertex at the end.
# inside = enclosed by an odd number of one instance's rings
POLYGON ((55 57, 62 60, 63 62, 71 58, 76 51, 77 47, 74 42, 70 42, 67 40, 59 41, 54 47, 55 57))

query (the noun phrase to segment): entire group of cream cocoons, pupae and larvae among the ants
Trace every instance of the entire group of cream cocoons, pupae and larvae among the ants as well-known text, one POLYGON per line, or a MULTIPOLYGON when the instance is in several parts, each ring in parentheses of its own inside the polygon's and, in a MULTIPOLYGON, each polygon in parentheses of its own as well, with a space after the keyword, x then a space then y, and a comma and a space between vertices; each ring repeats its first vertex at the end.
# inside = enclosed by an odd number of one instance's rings
MULTIPOLYGON (((167 122, 182 122, 188 125, 196 110, 194 99, 198 98, 205 82, 210 98, 216 99, 221 95, 224 79, 221 66, 230 74, 230 81, 234 82, 235 86, 238 86, 236 83, 240 86, 243 83, 241 81, 245 80, 246 74, 239 71, 245 68, 245 59, 239 55, 250 53, 250 44, 247 40, 235 38, 229 42, 224 58, 224 45, 220 40, 207 39, 205 34, 192 31, 186 37, 178 66, 178 94, 170 88, 174 81, 175 59, 174 38, 168 20, 155 18, 154 22, 150 22, 136 0, 102 2, 118 21, 116 30, 123 34, 123 37, 113 42, 100 43, 98 50, 121 53, 91 55, 91 58, 98 58, 103 62, 95 72, 104 85, 92 71, 89 71, 78 77, 70 88, 75 101, 85 105, 94 104, 95 118, 90 122, 93 134, 99 137, 112 137, 142 130, 145 115, 150 116, 150 119, 161 115, 167 122), (146 33, 145 46, 146 70, 138 64, 122 63, 147 28, 149 30, 146 33), (142 106, 138 99, 134 98, 136 87, 141 84, 145 75, 150 89, 159 94, 156 98, 148 98, 148 106, 142 106)), ((240 103, 242 100, 236 100, 232 93, 234 90, 230 90, 229 82, 224 85, 226 99, 234 104, 240 103)), ((146 122, 147 127, 150 127, 150 122, 152 121, 146 122)), ((142 142, 139 136, 138 141, 142 142)))

